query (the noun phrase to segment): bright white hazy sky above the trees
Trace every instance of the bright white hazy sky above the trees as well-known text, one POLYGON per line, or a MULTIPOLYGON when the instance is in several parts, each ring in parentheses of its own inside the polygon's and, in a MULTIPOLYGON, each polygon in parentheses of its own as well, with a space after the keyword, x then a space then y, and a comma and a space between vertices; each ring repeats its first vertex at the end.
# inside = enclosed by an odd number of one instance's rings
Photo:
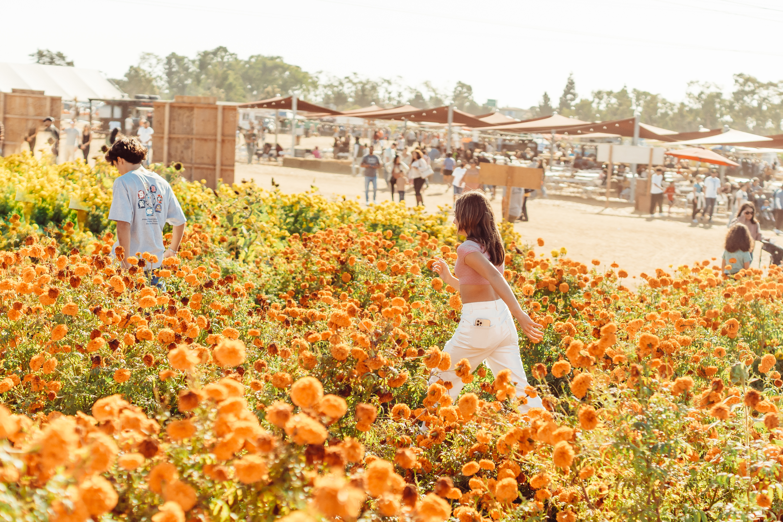
POLYGON ((780 0, 38 0, 5 2, 3 19, 0 62, 52 49, 110 77, 141 52, 225 45, 310 72, 449 90, 464 81, 476 101, 501 106, 531 106, 544 91, 556 104, 568 73, 579 95, 627 85, 673 101, 688 81, 728 91, 734 73, 783 79, 780 0))

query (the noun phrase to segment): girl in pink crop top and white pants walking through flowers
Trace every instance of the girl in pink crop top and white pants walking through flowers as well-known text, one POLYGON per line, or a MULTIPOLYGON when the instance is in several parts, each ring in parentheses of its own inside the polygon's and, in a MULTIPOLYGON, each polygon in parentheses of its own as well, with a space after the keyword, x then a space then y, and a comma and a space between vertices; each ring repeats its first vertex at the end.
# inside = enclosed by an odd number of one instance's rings
MULTIPOLYGON (((522 332, 538 342, 543 338, 541 325, 533 322, 503 279, 505 250, 497 229, 489 200, 480 191, 471 190, 460 194, 454 205, 454 225, 460 236, 467 240, 456 249, 454 275, 449 265, 440 257, 435 258, 432 269, 443 281, 460 289, 462 317, 451 339, 443 351, 451 356, 452 367, 466 358, 475 369, 482 361, 487 362, 495 376, 503 369, 511 370, 511 383, 518 397, 525 397, 528 385, 522 359, 519 355, 519 337, 514 326, 516 318, 522 332)), ((463 383, 454 369, 438 372, 430 381, 450 381, 453 385, 449 394, 456 399, 463 383)), ((542 407, 540 398, 527 398, 521 412, 531 407, 542 407)))

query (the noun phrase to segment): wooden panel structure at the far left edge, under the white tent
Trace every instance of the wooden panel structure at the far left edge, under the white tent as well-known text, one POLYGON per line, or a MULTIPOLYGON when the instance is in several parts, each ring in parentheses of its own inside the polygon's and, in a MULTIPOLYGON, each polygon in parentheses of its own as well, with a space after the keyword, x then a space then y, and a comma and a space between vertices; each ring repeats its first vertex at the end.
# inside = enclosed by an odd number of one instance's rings
POLYGON ((9 156, 21 150, 22 143, 31 128, 38 128, 41 120, 54 118, 56 128, 60 128, 60 113, 63 112, 63 100, 60 96, 47 96, 43 91, 12 89, 0 92, 0 121, 5 126, 5 145, 0 156, 9 156))

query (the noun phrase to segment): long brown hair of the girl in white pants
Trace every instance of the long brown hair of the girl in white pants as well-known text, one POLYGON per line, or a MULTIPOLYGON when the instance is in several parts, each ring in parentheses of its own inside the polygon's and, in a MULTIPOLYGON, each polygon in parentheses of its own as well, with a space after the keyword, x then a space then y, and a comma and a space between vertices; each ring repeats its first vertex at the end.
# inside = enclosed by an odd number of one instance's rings
POLYGON ((457 196, 454 218, 467 239, 481 245, 489 254, 489 261, 500 266, 506 258, 503 239, 495 224, 495 214, 487 196, 480 190, 469 190, 457 196))

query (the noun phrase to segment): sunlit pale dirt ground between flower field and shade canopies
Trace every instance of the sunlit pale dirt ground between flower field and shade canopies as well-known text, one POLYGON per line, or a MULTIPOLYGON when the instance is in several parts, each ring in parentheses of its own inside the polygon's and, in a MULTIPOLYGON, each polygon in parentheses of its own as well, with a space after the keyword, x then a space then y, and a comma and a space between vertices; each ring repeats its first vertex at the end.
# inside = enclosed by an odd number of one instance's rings
MULTIPOLYGON (((319 187, 324 196, 361 196, 364 202, 364 179, 362 176, 326 174, 298 168, 279 167, 264 164, 236 164, 236 180, 253 179, 265 189, 271 188, 272 178, 280 184, 285 193, 301 192, 310 185, 319 187)), ((378 180, 377 201, 389 200, 389 190, 384 180, 378 180)), ((424 189, 424 203, 428 211, 437 212, 438 205, 452 202, 450 186, 432 183, 424 189)), ((493 201, 496 216, 500 215, 502 190, 498 190, 493 201)), ((372 193, 370 193, 372 200, 372 193)), ((413 189, 406 194, 408 206, 415 204, 413 189)), ((725 218, 715 218, 713 226, 693 225, 687 218, 655 218, 633 213, 633 207, 610 207, 603 203, 590 204, 590 200, 556 200, 538 198, 529 200, 530 221, 517 222, 514 228, 526 243, 536 243, 543 238, 545 247, 538 249, 549 252, 565 247, 568 257, 590 263, 593 259, 609 265, 618 263, 630 275, 641 272, 652 273, 655 268, 692 265, 694 261, 718 258, 723 254, 723 239, 726 236, 725 218)), ((688 216, 690 218, 690 216, 688 216)), ((763 236, 772 236, 763 231, 763 236)), ((783 241, 778 242, 783 243, 783 241)), ((758 266, 761 243, 756 243, 753 266, 758 266)), ((768 254, 763 254, 763 263, 769 263, 768 254)), ((629 279, 629 286, 636 286, 629 279)))

